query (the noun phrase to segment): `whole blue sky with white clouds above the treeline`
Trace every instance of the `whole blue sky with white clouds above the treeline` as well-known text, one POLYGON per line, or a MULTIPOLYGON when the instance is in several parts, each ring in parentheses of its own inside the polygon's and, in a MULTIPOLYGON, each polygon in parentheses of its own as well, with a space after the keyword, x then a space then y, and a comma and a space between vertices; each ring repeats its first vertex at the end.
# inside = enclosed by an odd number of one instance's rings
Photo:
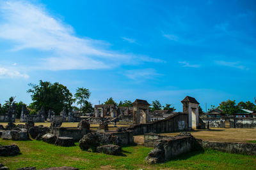
POLYGON ((28 83, 218 106, 256 96, 256 1, 0 1, 0 103, 28 83))

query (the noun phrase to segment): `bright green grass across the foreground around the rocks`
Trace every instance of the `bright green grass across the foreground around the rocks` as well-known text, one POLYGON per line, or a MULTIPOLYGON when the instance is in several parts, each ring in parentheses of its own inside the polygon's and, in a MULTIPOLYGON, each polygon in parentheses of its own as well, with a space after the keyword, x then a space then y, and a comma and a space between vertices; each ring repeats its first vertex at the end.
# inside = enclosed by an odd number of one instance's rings
POLYGON ((77 145, 55 146, 42 141, 7 141, 1 145, 16 144, 22 154, 14 157, 0 157, 0 162, 10 169, 34 166, 37 169, 58 166, 72 166, 79 169, 255 169, 256 156, 206 150, 191 152, 176 157, 164 164, 148 165, 145 157, 152 148, 145 146, 123 147, 122 156, 90 153, 77 145))

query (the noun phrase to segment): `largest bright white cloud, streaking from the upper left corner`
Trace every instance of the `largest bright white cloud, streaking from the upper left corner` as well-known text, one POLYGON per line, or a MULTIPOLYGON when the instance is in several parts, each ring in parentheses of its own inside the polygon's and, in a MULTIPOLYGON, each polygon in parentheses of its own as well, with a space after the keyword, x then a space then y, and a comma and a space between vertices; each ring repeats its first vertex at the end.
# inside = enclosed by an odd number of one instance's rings
POLYGON ((12 50, 47 52, 35 66, 37 69, 102 69, 134 64, 134 60, 145 62, 137 55, 106 50, 104 41, 79 38, 70 25, 47 13, 42 6, 27 1, 2 1, 0 11, 3 18, 0 38, 13 42, 12 50))

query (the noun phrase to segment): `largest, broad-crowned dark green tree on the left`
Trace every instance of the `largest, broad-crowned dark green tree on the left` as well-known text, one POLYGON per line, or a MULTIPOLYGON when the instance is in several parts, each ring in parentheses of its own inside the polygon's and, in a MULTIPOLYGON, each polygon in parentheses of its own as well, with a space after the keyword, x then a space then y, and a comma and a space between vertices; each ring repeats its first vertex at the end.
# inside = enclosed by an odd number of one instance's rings
POLYGON ((45 111, 53 110, 58 115, 64 108, 67 110, 71 108, 71 104, 74 102, 71 92, 58 82, 52 84, 49 81, 40 80, 39 85, 29 83, 29 86, 31 89, 27 92, 31 93, 33 101, 30 108, 35 111, 40 110, 43 106, 45 111))

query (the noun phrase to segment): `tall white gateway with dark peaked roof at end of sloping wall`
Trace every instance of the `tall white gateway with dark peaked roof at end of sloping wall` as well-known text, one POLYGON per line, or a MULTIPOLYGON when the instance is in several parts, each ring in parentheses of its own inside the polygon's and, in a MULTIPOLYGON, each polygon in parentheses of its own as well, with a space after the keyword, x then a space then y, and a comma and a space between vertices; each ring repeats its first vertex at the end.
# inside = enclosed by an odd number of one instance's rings
POLYGON ((183 113, 188 114, 188 128, 198 129, 198 105, 194 97, 186 96, 185 99, 181 101, 183 104, 183 113))

